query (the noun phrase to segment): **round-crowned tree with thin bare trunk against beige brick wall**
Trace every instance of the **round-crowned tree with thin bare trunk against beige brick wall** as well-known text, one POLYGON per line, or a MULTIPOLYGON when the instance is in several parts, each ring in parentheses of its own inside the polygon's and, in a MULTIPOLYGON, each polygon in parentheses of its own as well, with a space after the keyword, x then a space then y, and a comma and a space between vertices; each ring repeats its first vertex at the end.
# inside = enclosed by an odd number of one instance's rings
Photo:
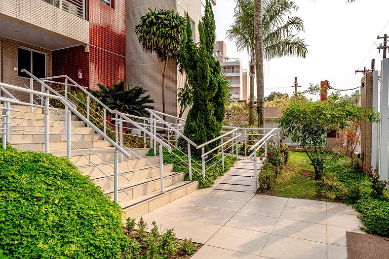
MULTIPOLYGON (((165 77, 169 61, 175 60, 181 37, 185 31, 185 18, 174 10, 151 10, 135 26, 135 34, 143 50, 156 53, 162 73, 162 112, 166 113, 165 77)), ((165 119, 165 116, 163 116, 165 119)))

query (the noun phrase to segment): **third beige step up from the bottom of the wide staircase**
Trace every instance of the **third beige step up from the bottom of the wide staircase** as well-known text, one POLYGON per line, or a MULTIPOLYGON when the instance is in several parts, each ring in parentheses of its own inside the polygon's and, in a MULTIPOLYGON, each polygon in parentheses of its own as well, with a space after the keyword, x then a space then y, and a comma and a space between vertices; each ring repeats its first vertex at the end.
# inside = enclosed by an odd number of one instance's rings
MULTIPOLYGON (((148 181, 150 179, 158 178, 160 177, 159 172, 159 166, 154 165, 153 166, 145 166, 141 168, 128 168, 125 171, 119 171, 118 174, 118 185, 124 188, 123 186, 129 186, 133 185, 142 181, 148 181), (156 169, 157 168, 157 169, 156 169)), ((164 164, 163 165, 163 172, 164 174, 169 174, 173 171, 173 164, 164 164)), ((104 171, 105 172, 105 171, 104 171)), ((106 173, 106 172, 105 172, 106 173)), ((107 174, 107 173, 106 173, 107 174)), ((93 177, 93 182, 100 186, 103 190, 111 190, 114 189, 114 182, 110 179, 114 180, 114 173, 107 174, 105 176, 104 174, 93 177)), ((167 179, 170 180, 170 179, 167 179)), ((159 184, 159 181, 158 181, 159 184)))

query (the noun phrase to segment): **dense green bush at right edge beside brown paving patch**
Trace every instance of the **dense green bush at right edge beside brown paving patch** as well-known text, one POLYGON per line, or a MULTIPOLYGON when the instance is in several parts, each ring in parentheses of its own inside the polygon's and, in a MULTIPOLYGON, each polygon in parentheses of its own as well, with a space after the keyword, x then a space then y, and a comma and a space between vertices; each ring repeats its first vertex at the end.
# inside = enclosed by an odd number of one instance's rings
POLYGON ((362 229, 385 237, 389 237, 389 202, 378 199, 358 200, 354 209, 362 213, 359 218, 365 227, 362 229))

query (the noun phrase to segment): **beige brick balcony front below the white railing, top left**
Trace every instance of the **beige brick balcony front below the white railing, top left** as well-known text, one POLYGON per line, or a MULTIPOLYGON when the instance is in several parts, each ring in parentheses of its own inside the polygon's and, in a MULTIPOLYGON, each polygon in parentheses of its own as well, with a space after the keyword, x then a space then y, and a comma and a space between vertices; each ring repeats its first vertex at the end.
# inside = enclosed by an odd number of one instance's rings
POLYGON ((42 0, 0 0, 0 16, 38 30, 89 44, 89 22, 42 0))

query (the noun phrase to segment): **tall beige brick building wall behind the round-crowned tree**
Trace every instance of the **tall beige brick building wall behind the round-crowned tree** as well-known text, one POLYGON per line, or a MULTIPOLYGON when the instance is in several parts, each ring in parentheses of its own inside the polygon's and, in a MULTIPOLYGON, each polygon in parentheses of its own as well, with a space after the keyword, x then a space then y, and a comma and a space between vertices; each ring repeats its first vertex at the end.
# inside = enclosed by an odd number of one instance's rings
MULTIPOLYGON (((211 0, 216 4, 216 0, 211 0)), ((169 9, 189 15, 194 29, 193 38, 199 42, 197 26, 205 10, 205 0, 127 0, 126 1, 126 78, 131 86, 142 86, 154 99, 155 109, 162 111, 162 75, 156 54, 143 51, 135 26, 139 24, 142 15, 150 9, 169 9)), ((166 113, 177 116, 180 108, 176 92, 185 84, 185 76, 181 75, 175 61, 168 64, 165 78, 166 113)))

